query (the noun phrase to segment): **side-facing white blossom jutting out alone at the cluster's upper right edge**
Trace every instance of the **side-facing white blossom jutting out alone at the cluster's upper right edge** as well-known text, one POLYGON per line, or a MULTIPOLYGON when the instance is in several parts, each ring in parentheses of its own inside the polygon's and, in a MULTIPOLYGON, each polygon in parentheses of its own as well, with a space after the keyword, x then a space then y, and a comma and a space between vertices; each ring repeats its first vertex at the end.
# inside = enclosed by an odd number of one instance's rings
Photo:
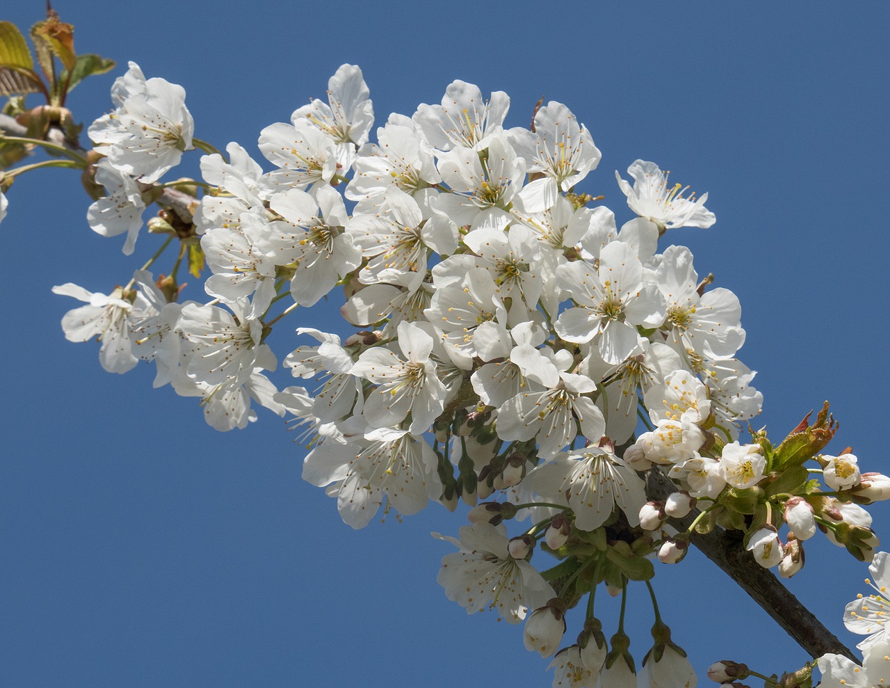
POLYGON ((670 173, 663 173, 655 163, 635 160, 627 168, 627 174, 634 178, 633 188, 621 179, 618 172, 615 173, 619 187, 627 196, 627 205, 636 214, 658 224, 659 228, 706 229, 715 223, 714 214, 705 207, 708 194, 703 194, 698 200, 694 193, 690 198, 684 198, 689 187, 682 184, 667 186, 667 174, 670 173))

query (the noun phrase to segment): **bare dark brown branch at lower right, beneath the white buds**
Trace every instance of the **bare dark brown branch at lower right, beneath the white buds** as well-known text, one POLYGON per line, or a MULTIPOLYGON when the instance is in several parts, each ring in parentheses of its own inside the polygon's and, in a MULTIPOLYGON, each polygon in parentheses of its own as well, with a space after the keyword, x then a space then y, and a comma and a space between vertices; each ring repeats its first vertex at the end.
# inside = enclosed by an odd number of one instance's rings
MULTIPOLYGON (((676 486, 657 466, 646 473, 649 498, 666 499, 672 492, 676 492, 676 486)), ((667 521, 682 532, 690 527, 698 514, 699 511, 695 509, 684 518, 670 518, 667 521)), ((738 531, 715 528, 702 535, 693 530, 691 539, 693 545, 738 583, 811 656, 821 657, 826 652, 834 652, 860 663, 854 652, 824 627, 772 571, 754 561, 742 546, 738 531)))

